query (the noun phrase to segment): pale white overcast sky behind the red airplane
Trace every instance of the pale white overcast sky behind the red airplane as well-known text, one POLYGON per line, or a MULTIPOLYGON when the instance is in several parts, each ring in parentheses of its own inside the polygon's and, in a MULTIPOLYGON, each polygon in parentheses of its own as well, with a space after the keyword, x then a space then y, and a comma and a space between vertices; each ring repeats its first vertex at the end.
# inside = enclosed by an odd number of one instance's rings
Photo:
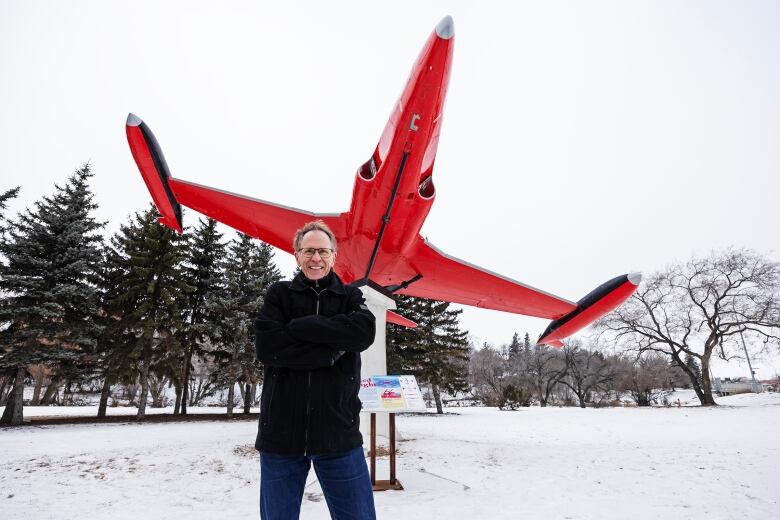
MULTIPOLYGON (((22 186, 20 210, 89 160, 113 232, 150 201, 132 111, 176 177, 343 211, 447 14, 437 247, 575 301, 730 245, 780 260, 773 1, 0 0, 0 189, 22 186)), ((547 325, 468 308, 462 324, 494 344, 547 325)))

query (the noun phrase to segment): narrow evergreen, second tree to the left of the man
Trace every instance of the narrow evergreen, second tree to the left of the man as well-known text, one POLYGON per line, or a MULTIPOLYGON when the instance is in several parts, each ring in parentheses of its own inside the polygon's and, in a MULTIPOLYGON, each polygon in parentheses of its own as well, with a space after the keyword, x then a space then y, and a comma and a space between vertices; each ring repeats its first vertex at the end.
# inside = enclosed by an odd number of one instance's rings
POLYGON ((226 246, 222 242, 222 233, 217 231, 217 221, 213 219, 199 221, 198 227, 187 235, 187 260, 184 266, 184 280, 193 288, 187 296, 186 319, 182 334, 183 356, 180 375, 175 374, 176 406, 178 413, 187 414, 190 370, 192 356, 203 354, 203 347, 213 342, 214 323, 218 319, 206 305, 210 295, 223 287, 222 272, 226 246))

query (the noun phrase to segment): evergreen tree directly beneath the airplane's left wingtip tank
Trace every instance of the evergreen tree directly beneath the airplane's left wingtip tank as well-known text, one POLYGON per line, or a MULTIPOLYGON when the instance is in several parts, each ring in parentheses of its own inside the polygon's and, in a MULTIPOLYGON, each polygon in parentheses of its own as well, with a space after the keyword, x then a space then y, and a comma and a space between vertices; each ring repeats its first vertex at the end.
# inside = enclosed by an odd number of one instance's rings
POLYGON ((136 214, 121 227, 114 244, 124 273, 111 302, 120 315, 114 330, 127 341, 122 345, 123 355, 140 378, 139 420, 146 415, 151 370, 180 359, 181 309, 192 291, 182 269, 184 239, 157 219, 153 207, 136 214))

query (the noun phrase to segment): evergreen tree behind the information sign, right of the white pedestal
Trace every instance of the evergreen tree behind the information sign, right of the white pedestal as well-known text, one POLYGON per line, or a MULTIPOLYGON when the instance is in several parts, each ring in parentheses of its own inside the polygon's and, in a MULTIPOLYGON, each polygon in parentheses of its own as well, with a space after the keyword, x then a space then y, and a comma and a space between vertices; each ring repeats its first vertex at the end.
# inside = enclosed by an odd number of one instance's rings
POLYGON ((458 316, 463 311, 449 309, 448 302, 408 296, 399 297, 397 304, 417 327, 392 329, 388 369, 391 373, 412 374, 430 385, 436 411, 444 413, 441 391, 454 394, 468 388, 468 332, 458 327, 458 316))

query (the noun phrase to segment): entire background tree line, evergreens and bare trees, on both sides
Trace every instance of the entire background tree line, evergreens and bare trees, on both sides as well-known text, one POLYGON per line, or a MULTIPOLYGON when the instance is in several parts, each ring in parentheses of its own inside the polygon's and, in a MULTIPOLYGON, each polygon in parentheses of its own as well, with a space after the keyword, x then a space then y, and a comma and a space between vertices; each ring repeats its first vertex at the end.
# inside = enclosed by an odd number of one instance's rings
MULTIPOLYGON (((21 423, 30 378, 32 404, 60 391, 63 399, 99 391, 98 416, 112 389, 143 418, 148 397, 163 406, 169 387, 175 414, 224 390, 229 415, 238 400, 248 413, 262 383, 251 321, 281 278, 271 246, 241 233, 226 241, 211 219, 178 235, 152 205, 105 238, 92 175, 85 164, 15 218, 5 210, 19 188, 0 194, 1 422, 21 423)), ((645 405, 675 387, 713 405, 714 357, 780 345, 780 269, 765 256, 732 248, 644 279, 595 324, 597 341, 562 350, 527 333, 500 349, 475 348, 461 311, 398 296, 398 311, 418 326, 388 325, 388 372, 417 376, 439 413, 445 396, 515 408, 600 405, 628 394, 645 405)))

